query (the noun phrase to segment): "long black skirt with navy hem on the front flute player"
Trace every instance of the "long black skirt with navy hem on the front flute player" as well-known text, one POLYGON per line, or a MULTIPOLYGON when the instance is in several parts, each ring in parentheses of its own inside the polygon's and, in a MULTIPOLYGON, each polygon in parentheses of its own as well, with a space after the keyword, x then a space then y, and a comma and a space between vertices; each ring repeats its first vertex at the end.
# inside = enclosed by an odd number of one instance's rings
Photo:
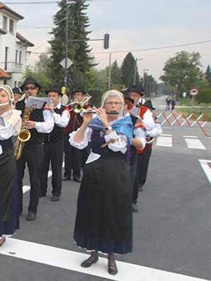
POLYGON ((78 246, 111 254, 132 252, 129 166, 111 156, 84 166, 74 239, 78 246))

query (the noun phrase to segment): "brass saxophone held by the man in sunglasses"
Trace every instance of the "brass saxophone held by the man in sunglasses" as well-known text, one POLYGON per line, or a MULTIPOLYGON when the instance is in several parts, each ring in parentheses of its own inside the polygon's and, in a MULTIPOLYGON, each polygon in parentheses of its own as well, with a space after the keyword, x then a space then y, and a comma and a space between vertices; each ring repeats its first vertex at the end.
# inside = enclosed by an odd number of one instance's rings
POLYGON ((23 120, 22 120, 22 127, 20 129, 20 133, 18 135, 18 139, 16 142, 16 148, 15 148, 15 159, 20 159, 22 153, 23 153, 23 146, 25 142, 27 142, 30 137, 31 133, 29 130, 25 128, 25 122, 30 120, 30 113, 32 111, 32 108, 26 107, 23 113, 23 120))

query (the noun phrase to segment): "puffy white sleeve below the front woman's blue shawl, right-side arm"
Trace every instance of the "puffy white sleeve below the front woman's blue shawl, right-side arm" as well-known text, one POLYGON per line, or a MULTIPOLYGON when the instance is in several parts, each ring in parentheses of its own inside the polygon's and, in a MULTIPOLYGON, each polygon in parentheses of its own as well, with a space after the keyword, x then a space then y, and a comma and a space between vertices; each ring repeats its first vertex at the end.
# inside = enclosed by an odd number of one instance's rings
POLYGON ((108 144, 108 148, 114 152, 120 151, 122 154, 125 154, 127 151, 127 137, 124 135, 117 135, 117 133, 113 131, 109 135, 105 135, 106 142, 109 142, 111 139, 116 139, 116 141, 108 144))

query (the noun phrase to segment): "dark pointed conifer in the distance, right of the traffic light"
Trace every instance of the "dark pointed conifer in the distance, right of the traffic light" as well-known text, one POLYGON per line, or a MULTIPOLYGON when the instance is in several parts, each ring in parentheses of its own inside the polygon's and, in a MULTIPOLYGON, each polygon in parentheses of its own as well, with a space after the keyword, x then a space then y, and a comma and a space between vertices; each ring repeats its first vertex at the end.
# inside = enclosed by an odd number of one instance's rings
MULTIPOLYGON (((134 71, 136 68, 136 61, 132 53, 128 53, 125 56, 124 61, 121 65, 122 70, 122 83, 124 86, 129 87, 134 84, 134 71)), ((139 72, 136 71, 136 84, 141 83, 139 72)))

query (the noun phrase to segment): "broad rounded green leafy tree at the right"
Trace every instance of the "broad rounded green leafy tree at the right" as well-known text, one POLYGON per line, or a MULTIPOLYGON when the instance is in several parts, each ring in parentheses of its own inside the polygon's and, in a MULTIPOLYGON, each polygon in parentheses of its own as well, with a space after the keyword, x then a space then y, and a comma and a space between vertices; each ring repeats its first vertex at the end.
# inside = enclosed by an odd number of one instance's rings
POLYGON ((188 92, 191 87, 195 87, 198 80, 202 79, 200 67, 199 53, 180 51, 165 63, 164 75, 160 79, 167 85, 176 87, 179 96, 182 92, 188 92))

